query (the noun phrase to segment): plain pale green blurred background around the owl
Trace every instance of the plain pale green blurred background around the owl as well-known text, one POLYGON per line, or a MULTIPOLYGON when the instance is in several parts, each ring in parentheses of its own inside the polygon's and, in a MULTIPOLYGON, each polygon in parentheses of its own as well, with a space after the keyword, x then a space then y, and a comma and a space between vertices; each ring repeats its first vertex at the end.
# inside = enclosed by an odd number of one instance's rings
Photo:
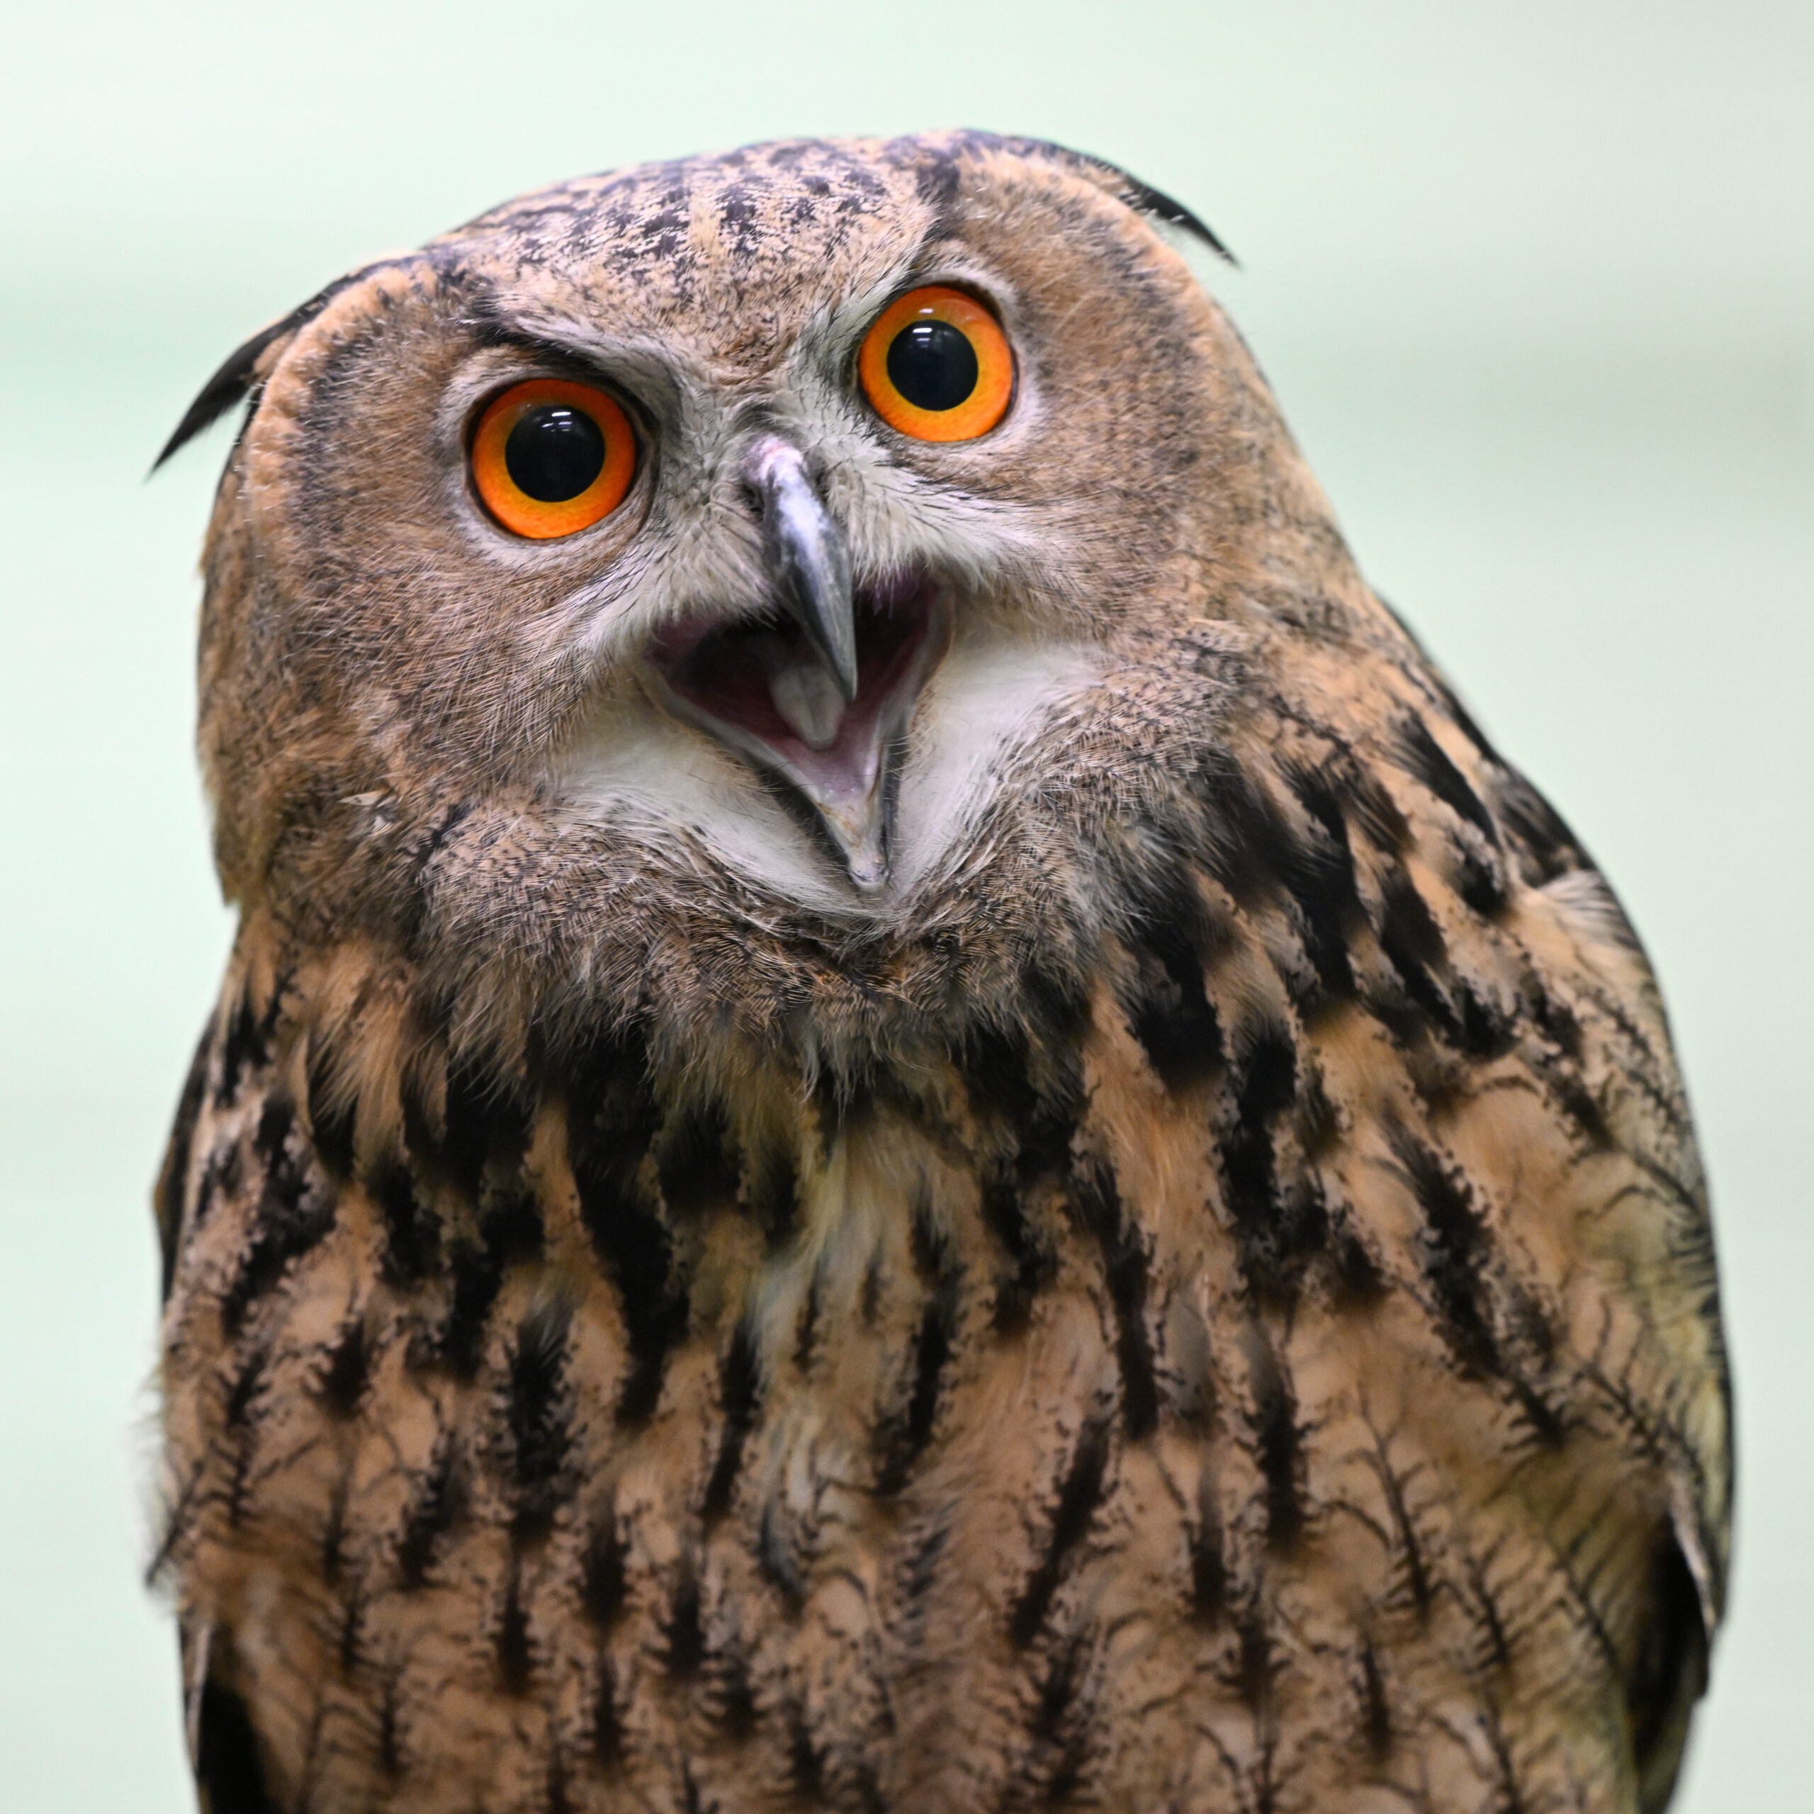
POLYGON ((147 1190, 230 925, 190 756, 249 332, 519 189, 755 138, 1101 152, 1215 287, 1375 586, 1662 972, 1740 1404, 1678 1807, 1809 1805, 1814 7, 662 0, 7 9, 0 74, 0 1801, 190 1792, 147 1555, 147 1190))

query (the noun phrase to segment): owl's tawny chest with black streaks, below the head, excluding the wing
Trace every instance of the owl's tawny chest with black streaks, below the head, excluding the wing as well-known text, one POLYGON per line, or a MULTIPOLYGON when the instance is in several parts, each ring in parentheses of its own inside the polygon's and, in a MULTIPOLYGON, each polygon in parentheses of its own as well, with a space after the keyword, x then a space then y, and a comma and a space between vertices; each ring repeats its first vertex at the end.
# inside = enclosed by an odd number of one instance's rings
POLYGON ((169 1556, 297 1807, 1210 1809, 1435 1743, 1544 1625, 1609 1676, 1556 1553, 1638 1565, 1618 1471, 1507 1500, 1526 1439, 1417 1306, 1257 1306, 1201 1116, 776 1157, 611 1085, 386 1172, 216 1096, 169 1556))

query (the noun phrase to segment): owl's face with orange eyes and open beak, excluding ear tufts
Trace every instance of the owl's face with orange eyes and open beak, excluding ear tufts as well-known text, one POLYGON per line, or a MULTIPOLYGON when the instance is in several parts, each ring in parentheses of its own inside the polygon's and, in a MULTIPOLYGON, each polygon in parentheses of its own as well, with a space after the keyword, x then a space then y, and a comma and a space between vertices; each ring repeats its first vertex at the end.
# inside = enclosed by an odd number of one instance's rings
POLYGON ((528 196, 252 343, 229 883, 310 820, 455 814, 833 914, 961 865, 1226 515, 1226 330, 1130 192, 976 136, 758 147, 528 196))

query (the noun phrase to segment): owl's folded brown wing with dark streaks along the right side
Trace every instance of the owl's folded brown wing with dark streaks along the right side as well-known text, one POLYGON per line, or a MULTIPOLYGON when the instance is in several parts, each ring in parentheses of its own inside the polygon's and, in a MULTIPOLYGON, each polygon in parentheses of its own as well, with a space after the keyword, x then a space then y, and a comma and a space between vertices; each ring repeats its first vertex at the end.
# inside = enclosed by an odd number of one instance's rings
MULTIPOLYGON (((1295 1175, 1263 1181, 1248 1275, 1290 1293, 1264 1279, 1292 1264, 1293 1199, 1346 1221, 1451 1370, 1517 1406, 1518 1491, 1562 1553, 1593 1553, 1595 1518, 1629 1520, 1624 1560, 1578 1589, 1656 1810, 1707 1682, 1732 1495, 1707 1188, 1662 998, 1580 842, 1415 644, 1384 680, 1302 642, 1292 660, 1292 686, 1232 733, 1244 760, 1204 867, 1286 994, 1315 1003, 1273 1119, 1295 1175), (1317 1094, 1337 1125, 1321 1154, 1302 1132, 1317 1094), (1564 1509, 1578 1478, 1553 1498, 1536 1484, 1542 1451, 1576 1439, 1613 1457, 1591 1515, 1564 1509)), ((1250 1058, 1259 1097, 1257 1076, 1250 1058)), ((1250 1123, 1237 1108, 1224 1152, 1250 1123)))

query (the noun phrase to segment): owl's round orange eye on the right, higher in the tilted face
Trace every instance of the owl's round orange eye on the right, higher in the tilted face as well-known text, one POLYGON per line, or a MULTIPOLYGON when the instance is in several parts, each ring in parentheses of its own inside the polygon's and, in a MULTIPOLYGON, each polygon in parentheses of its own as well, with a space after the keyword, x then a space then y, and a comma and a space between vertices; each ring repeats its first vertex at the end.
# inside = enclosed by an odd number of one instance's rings
POLYGON ((882 310, 856 374, 889 428, 916 441, 974 441, 1007 414, 1014 352, 974 296, 929 285, 882 310))

